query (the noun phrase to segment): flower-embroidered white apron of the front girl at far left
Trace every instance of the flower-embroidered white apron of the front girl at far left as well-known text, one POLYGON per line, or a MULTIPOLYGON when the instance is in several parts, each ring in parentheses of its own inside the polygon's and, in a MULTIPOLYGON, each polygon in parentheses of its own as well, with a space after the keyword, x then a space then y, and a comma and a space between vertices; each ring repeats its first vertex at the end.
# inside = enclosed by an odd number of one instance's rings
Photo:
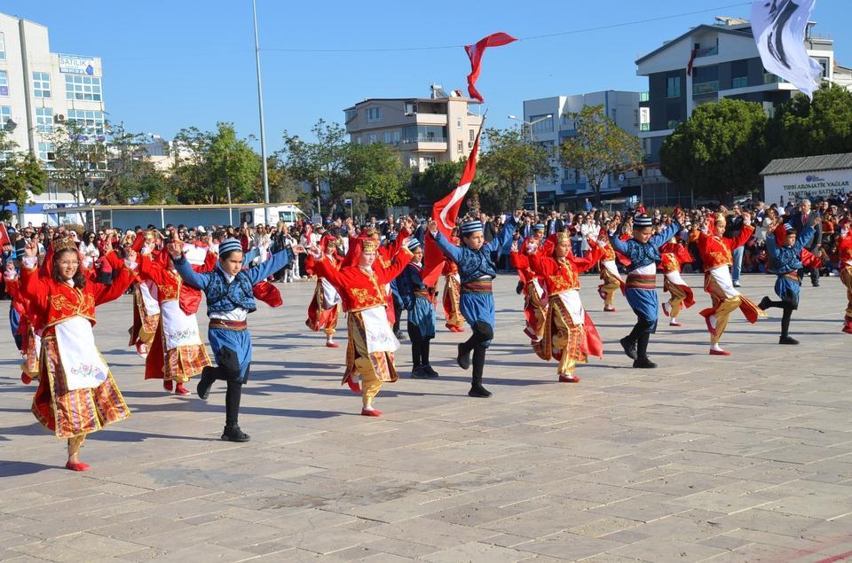
POLYGON ((93 389, 106 381, 107 367, 95 346, 91 323, 71 317, 53 328, 68 390, 93 389))

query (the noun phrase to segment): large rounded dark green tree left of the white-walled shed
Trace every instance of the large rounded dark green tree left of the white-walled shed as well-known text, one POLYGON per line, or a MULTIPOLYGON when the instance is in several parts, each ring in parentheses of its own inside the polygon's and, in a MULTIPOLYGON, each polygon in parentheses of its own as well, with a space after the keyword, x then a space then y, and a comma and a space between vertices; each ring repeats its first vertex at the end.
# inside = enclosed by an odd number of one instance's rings
POLYGON ((730 202, 761 185, 766 121, 763 107, 753 102, 723 99, 698 106, 663 143, 660 170, 698 197, 730 202))

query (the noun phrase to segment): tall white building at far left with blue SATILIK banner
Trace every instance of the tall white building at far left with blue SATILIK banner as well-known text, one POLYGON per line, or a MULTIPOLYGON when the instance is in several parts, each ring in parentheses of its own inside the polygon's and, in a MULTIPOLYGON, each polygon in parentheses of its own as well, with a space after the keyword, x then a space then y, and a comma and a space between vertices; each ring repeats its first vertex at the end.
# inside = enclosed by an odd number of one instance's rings
MULTIPOLYGON (((103 73, 99 57, 51 52, 47 27, 0 13, 0 127, 19 145, 51 167, 45 135, 57 123, 76 121, 92 142, 103 141, 103 73)), ((72 194, 49 190, 33 205, 14 210, 23 223, 61 223, 72 194)), ((7 208, 14 207, 7 206, 7 208)))

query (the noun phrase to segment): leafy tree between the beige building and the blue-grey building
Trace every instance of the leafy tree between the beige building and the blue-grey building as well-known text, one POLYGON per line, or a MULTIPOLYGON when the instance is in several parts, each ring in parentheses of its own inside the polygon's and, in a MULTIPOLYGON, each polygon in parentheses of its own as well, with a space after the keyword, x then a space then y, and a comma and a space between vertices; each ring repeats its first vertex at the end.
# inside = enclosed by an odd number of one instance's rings
POLYGON ((489 128, 485 129, 485 137, 488 146, 479 157, 477 176, 491 176, 494 184, 489 192, 501 201, 499 211, 520 208, 533 175, 554 174, 548 150, 527 142, 522 129, 489 128))

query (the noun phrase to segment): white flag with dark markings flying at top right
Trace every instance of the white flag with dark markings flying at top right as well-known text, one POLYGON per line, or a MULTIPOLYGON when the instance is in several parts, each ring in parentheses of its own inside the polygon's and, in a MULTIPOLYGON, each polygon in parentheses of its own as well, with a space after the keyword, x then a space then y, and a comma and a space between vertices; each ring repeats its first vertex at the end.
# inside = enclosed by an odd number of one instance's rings
POLYGON ((823 67, 805 50, 805 28, 817 0, 754 0, 752 33, 763 66, 814 98, 823 67))

